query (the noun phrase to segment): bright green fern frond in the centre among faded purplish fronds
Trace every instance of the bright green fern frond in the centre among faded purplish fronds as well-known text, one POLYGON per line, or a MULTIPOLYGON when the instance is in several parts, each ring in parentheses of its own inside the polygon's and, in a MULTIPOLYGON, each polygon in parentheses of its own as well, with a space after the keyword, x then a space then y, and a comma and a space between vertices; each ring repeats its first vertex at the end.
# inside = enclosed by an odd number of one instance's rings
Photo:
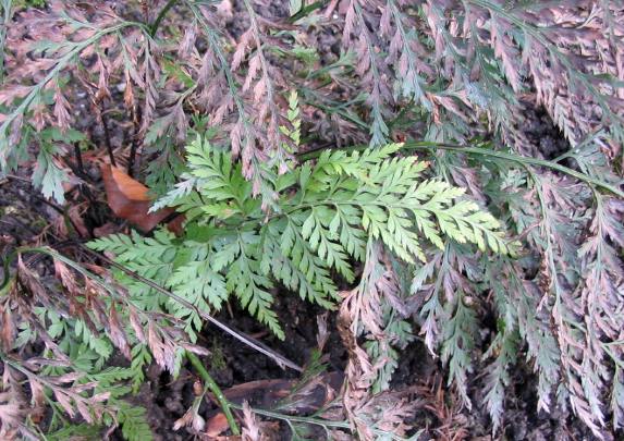
MULTIPOLYGON (((272 289, 280 283, 331 308, 340 298, 335 275, 354 281, 368 241, 383 242, 406 262, 425 259, 425 242, 443 247, 446 238, 510 252, 490 213, 463 198, 462 188, 426 179, 427 163, 396 156, 400 148, 326 150, 287 174, 279 174, 277 166, 267 169, 276 192, 267 208, 252 197, 241 164, 198 136, 186 147, 186 181, 164 198, 186 215, 184 234, 117 234, 90 246, 117 254, 120 264, 198 309, 219 310, 233 295, 280 339, 272 289)), ((157 293, 125 282, 146 307, 157 307, 157 293)), ((197 311, 173 303, 167 307, 196 338, 197 311)))

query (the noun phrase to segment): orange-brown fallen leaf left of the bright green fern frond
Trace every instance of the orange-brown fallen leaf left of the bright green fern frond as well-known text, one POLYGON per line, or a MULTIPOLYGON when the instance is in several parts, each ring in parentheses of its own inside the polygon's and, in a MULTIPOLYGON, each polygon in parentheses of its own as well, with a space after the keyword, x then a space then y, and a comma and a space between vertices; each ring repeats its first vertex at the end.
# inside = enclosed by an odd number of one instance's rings
MULTIPOLYGON (((105 163, 101 173, 109 207, 115 216, 127 220, 138 230, 147 233, 175 212, 173 208, 149 212, 152 203, 148 195, 149 188, 118 167, 105 163)), ((168 223, 168 228, 179 234, 183 220, 182 215, 176 216, 168 223)))

